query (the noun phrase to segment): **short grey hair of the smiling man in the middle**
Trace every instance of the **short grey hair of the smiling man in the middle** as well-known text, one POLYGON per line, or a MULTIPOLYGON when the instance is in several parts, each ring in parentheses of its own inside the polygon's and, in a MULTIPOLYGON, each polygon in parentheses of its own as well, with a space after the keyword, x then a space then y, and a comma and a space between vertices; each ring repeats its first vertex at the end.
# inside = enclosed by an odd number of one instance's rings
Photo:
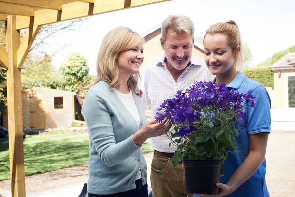
POLYGON ((192 40, 194 40, 195 26, 192 20, 187 16, 170 15, 162 23, 161 33, 162 40, 165 41, 168 30, 172 30, 173 33, 180 35, 181 33, 190 33, 192 40))

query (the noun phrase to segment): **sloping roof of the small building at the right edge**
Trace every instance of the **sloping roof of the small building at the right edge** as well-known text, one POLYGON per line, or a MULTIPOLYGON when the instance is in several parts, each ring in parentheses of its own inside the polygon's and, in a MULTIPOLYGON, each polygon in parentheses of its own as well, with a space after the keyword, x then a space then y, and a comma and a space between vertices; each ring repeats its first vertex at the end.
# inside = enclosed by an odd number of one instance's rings
POLYGON ((287 53, 284 57, 279 59, 276 63, 270 66, 271 70, 278 69, 295 69, 295 53, 287 53))

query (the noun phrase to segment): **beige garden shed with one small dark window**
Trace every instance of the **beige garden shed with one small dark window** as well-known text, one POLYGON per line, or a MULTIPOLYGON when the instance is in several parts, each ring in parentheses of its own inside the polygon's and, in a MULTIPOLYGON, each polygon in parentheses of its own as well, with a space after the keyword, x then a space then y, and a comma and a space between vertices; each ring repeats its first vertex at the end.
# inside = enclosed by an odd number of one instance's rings
MULTIPOLYGON (((29 130, 70 127, 75 119, 75 92, 49 88, 22 90, 23 125, 29 130)), ((8 128, 7 113, 3 126, 8 128)))

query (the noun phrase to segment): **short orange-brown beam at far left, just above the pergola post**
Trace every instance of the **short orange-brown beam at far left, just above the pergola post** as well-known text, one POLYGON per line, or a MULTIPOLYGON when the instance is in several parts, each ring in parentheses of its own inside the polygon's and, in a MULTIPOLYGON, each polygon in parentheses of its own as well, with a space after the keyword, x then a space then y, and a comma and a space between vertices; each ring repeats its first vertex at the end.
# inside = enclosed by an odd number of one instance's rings
POLYGON ((35 8, 33 7, 0 2, 0 13, 22 16, 34 16, 34 12, 35 8))

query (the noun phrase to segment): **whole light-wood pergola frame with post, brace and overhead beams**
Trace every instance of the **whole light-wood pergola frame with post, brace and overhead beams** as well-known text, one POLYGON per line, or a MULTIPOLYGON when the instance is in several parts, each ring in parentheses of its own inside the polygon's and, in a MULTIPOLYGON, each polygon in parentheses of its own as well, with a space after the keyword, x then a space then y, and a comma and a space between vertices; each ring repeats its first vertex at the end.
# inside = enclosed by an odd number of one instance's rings
POLYGON ((169 0, 0 0, 6 21, 6 48, 0 62, 7 69, 7 104, 12 197, 25 197, 21 68, 42 25, 169 0), (20 30, 27 32, 20 41, 20 30))

